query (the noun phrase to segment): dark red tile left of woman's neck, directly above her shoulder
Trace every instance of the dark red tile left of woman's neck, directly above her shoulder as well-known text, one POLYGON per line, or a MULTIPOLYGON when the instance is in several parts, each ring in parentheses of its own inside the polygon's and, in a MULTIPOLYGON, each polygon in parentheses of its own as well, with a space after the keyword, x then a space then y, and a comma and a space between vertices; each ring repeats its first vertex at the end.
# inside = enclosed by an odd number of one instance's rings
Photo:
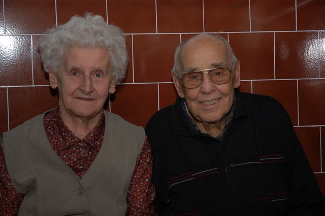
POLYGON ((8 100, 10 129, 58 106, 58 97, 47 86, 8 88, 8 100))

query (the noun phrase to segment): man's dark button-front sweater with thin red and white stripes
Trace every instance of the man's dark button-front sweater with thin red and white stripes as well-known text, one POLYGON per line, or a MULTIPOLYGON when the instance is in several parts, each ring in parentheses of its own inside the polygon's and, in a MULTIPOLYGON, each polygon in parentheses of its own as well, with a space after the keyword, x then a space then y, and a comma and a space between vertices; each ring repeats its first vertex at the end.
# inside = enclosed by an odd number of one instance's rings
POLYGON ((324 197, 278 101, 236 91, 221 142, 189 126, 181 100, 146 126, 159 215, 325 215, 324 197))

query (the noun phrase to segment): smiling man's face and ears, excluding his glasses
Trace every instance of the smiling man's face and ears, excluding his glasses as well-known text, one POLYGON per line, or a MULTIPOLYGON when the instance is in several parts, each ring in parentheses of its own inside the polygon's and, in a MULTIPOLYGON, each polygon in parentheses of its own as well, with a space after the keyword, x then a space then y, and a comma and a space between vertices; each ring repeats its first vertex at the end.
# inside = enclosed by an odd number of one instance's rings
MULTIPOLYGON (((188 41, 180 53, 183 71, 208 69, 218 65, 232 69, 231 60, 227 59, 226 53, 226 46, 211 36, 188 41)), ((240 85, 240 65, 237 62, 236 70, 231 71, 231 80, 222 85, 213 83, 208 74, 204 74, 201 85, 193 89, 184 88, 181 80, 174 75, 173 79, 178 95, 185 99, 194 122, 203 125, 223 124, 224 117, 233 104, 234 88, 240 85)))

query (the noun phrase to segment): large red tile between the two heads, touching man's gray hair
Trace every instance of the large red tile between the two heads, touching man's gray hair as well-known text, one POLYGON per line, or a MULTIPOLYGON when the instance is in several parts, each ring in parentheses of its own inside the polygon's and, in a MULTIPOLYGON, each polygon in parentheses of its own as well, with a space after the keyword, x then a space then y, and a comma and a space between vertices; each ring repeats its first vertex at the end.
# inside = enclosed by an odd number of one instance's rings
POLYGON ((174 52, 179 43, 179 34, 133 35, 135 82, 172 82, 174 52))

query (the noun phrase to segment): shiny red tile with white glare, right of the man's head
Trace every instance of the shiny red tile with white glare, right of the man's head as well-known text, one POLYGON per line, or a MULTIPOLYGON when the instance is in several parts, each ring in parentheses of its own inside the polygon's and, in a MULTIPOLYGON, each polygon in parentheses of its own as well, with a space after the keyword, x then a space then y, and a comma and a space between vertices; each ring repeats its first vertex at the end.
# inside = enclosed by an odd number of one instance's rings
POLYGON ((276 79, 318 78, 318 33, 276 32, 276 79))

